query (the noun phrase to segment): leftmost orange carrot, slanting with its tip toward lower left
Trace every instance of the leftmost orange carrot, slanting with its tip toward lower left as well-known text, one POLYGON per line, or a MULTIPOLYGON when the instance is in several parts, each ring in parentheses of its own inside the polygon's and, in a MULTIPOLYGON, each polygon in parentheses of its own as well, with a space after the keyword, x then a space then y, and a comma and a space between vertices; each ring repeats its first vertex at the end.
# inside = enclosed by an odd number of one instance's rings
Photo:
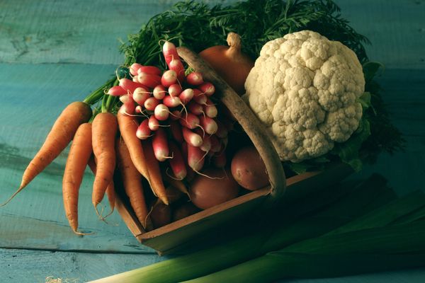
MULTIPOLYGON (((79 125, 89 121, 91 108, 88 104, 76 101, 69 104, 52 126, 40 150, 28 164, 23 173, 21 185, 18 190, 4 204, 10 202, 18 192, 21 192, 31 180, 40 174, 59 154, 67 147, 74 137, 79 125)), ((1 204, 0 206, 3 206, 1 204)))

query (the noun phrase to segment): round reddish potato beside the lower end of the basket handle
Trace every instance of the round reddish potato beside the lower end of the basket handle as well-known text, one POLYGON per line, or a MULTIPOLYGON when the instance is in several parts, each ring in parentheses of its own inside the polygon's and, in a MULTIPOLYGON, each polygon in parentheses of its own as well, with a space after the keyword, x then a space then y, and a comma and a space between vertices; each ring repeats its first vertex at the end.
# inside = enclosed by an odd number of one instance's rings
POLYGON ((254 146, 246 146, 234 154, 231 171, 234 180, 248 190, 258 190, 269 183, 266 166, 254 146))

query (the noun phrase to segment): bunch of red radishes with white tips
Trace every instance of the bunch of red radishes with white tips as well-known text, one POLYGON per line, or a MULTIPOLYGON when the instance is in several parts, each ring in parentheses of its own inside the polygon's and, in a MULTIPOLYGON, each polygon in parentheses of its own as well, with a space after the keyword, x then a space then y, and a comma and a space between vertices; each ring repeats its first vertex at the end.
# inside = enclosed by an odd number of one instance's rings
POLYGON ((155 157, 169 160, 174 178, 186 178, 187 166, 199 172, 207 156, 216 167, 224 167, 227 129, 216 120, 217 108, 210 99, 215 87, 199 72, 186 76, 171 42, 164 43, 162 52, 169 69, 132 64, 132 79, 120 79, 108 94, 120 96, 122 114, 140 117, 137 137, 152 137, 155 157))

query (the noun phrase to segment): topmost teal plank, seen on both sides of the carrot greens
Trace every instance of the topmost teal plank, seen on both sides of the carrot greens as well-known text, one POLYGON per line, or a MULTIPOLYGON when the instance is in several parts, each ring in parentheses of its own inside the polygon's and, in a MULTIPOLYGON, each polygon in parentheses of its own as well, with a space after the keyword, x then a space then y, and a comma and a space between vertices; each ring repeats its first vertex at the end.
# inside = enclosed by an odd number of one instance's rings
MULTIPOLYGON (((235 0, 208 1, 230 4, 235 0)), ((0 62, 121 64, 120 42, 173 0, 0 2, 0 62)), ((424 1, 336 0, 344 18, 373 43, 370 59, 424 69, 424 1), (402 45, 399 42, 403 42, 402 45)))

